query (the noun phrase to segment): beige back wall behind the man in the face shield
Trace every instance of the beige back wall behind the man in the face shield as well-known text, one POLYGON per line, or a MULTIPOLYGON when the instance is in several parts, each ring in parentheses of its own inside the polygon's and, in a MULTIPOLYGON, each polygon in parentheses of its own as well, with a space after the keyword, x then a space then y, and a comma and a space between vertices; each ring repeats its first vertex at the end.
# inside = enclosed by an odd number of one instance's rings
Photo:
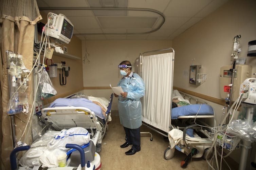
MULTIPOLYGON (((158 40, 86 41, 90 63, 83 64, 84 87, 109 87, 109 84, 116 86, 121 78, 117 66, 123 60, 129 60, 133 64, 140 53, 171 47, 171 45, 171 41, 158 40)), ((83 41, 84 55, 85 41, 83 41)), ((85 93, 108 99, 112 90, 85 90, 85 93)), ((114 98, 112 110, 117 110, 116 98, 114 98)))

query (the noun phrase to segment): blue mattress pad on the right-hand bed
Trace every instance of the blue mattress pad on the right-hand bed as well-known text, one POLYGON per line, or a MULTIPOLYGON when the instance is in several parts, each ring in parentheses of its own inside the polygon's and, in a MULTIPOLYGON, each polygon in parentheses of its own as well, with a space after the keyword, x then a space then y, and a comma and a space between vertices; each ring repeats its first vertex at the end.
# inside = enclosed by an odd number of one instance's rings
POLYGON ((179 116, 194 116, 194 115, 213 115, 212 106, 207 104, 190 104, 187 106, 175 107, 171 110, 171 119, 177 119, 179 116), (197 114, 200 108, 199 113, 197 114))

